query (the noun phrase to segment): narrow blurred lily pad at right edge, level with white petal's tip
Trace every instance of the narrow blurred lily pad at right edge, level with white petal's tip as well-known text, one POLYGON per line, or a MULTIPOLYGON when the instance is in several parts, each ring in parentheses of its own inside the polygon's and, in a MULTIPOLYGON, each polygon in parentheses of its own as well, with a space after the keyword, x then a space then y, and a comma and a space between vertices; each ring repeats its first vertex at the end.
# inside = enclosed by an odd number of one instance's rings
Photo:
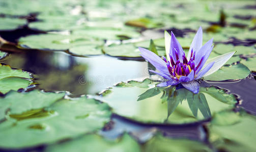
POLYGON ((224 45, 218 44, 213 50, 219 54, 225 54, 232 51, 237 51, 236 55, 240 54, 254 54, 256 53, 256 49, 254 47, 245 47, 245 46, 233 46, 233 45, 224 45))

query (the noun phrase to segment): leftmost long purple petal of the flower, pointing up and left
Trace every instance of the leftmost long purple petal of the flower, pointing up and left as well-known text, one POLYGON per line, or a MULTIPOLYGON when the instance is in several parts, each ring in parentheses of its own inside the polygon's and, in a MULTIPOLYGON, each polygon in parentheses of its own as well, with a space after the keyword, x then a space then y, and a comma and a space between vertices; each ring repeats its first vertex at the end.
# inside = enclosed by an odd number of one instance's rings
POLYGON ((156 55, 155 53, 144 49, 144 48, 138 48, 140 51, 140 55, 148 60, 153 66, 155 66, 159 71, 161 71, 162 73, 169 73, 166 63, 164 62, 164 60, 162 60, 158 55, 156 55))

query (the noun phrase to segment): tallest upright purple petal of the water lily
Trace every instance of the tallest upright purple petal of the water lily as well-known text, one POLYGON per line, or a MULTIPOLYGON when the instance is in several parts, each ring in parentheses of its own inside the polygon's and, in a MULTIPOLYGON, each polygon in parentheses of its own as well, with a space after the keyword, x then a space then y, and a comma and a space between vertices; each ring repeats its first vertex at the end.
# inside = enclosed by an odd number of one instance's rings
POLYGON ((193 49, 193 52, 197 52, 202 47, 202 43, 203 43, 203 30, 202 30, 202 27, 200 26, 189 48, 188 57, 187 57, 188 60, 190 60, 191 50, 193 49))

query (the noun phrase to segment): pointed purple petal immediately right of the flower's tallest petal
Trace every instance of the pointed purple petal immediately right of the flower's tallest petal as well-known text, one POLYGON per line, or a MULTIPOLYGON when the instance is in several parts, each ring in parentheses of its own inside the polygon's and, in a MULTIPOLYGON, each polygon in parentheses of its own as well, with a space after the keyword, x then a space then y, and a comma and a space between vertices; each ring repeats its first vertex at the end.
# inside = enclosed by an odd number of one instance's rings
POLYGON ((195 65, 200 62, 201 58, 208 54, 212 48, 213 39, 209 40, 200 50, 195 52, 195 65))

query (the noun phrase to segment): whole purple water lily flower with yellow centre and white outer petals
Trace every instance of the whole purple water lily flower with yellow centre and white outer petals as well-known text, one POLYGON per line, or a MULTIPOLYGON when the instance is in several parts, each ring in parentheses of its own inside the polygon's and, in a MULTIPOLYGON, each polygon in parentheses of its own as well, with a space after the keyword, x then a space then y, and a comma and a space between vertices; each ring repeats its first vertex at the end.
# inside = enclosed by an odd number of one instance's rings
POLYGON ((160 58, 155 53, 139 47, 140 55, 159 70, 159 72, 150 71, 166 80, 158 84, 157 87, 174 86, 181 83, 182 86, 195 94, 199 92, 199 83, 195 80, 217 71, 235 53, 230 52, 207 60, 212 52, 213 39, 202 46, 202 27, 197 30, 187 57, 173 32, 169 35, 165 31, 164 40, 167 59, 165 57, 160 58))

